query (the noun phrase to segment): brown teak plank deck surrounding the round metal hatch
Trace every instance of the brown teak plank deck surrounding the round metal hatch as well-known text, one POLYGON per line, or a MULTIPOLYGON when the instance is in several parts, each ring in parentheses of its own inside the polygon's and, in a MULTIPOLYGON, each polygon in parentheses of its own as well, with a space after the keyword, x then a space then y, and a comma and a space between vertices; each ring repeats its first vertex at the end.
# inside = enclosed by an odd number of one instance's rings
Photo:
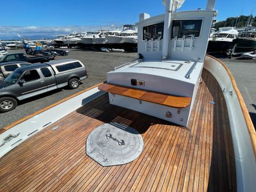
POLYGON ((224 96, 208 71, 202 79, 188 128, 109 105, 103 95, 3 156, 0 190, 236 191, 224 96), (105 122, 137 129, 144 139, 141 156, 109 167, 88 157, 87 136, 105 122))

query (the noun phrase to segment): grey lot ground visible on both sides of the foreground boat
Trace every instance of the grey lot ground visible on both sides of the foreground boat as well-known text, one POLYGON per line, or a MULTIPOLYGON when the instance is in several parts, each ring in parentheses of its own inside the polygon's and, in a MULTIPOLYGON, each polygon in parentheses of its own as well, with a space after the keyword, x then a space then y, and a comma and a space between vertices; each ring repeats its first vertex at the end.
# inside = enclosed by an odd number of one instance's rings
MULTIPOLYGON (((23 50, 11 50, 9 52, 23 52, 23 50)), ((231 73, 237 82, 243 99, 250 113, 251 119, 256 125, 256 60, 241 58, 226 59, 224 56, 217 55, 229 67, 231 73)), ((137 58, 136 52, 98 52, 85 50, 70 50, 67 56, 56 56, 56 59, 78 59, 85 64, 88 71, 88 79, 83 80, 78 89, 70 90, 68 88, 58 89, 39 96, 35 96, 19 102, 19 105, 13 111, 0 113, 0 129, 14 121, 21 119, 33 112, 38 111, 48 105, 62 100, 76 92, 91 87, 97 83, 105 81, 105 73, 137 58)), ((256 126, 255 126, 256 127, 256 126)))

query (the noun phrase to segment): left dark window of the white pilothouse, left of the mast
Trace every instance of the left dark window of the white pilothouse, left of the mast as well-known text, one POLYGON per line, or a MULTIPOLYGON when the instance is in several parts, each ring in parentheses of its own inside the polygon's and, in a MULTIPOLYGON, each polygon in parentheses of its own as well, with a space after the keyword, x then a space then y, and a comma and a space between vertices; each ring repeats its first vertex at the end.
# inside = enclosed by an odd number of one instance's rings
POLYGON ((162 39, 164 36, 164 22, 143 27, 143 40, 162 39))

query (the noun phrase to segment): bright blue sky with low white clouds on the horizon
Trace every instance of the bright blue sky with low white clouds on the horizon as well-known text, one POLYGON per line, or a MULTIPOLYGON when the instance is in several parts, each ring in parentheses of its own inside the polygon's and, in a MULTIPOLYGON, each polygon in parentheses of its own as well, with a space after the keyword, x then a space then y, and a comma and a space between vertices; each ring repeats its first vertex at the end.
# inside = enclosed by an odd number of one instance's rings
MULTIPOLYGON (((207 0, 185 0, 179 10, 205 9, 207 0)), ((250 15, 255 0, 216 0, 217 21, 250 15), (243 3, 245 2, 245 3, 243 3)), ((8 0, 1 2, 0 39, 11 36, 56 36, 134 24, 140 13, 164 13, 161 0, 8 0)), ((253 15, 256 15, 256 7, 253 15)))

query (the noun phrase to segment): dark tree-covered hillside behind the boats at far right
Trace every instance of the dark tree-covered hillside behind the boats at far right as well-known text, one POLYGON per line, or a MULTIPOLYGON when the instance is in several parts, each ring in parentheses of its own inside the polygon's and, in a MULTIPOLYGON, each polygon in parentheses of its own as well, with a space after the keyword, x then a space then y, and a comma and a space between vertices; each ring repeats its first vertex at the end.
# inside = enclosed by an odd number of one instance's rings
POLYGON ((220 27, 246 27, 246 24, 248 24, 249 21, 249 17, 250 17, 250 21, 251 19, 253 19, 253 21, 251 22, 252 26, 256 27, 256 17, 253 17, 253 15, 249 15, 249 16, 245 16, 245 15, 241 15, 240 17, 229 17, 226 19, 226 21, 220 21, 215 23, 215 27, 217 30, 220 27))

